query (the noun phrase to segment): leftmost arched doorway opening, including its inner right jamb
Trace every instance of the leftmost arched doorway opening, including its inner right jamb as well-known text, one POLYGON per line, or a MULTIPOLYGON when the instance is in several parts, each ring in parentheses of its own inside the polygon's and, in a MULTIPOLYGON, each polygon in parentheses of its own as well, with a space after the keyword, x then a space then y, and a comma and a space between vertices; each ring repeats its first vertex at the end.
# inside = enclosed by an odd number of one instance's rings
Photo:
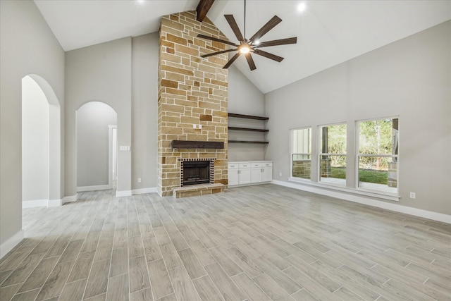
POLYGON ((47 80, 22 79, 23 207, 59 206, 61 185, 61 107, 47 80))

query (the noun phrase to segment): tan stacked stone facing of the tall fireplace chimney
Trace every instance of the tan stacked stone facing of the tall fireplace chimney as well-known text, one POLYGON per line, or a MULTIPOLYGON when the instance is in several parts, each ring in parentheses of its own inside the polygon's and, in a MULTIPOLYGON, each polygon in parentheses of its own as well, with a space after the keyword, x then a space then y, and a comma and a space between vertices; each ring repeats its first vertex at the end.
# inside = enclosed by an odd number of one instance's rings
POLYGON ((195 17, 188 11, 161 18, 157 188, 162 196, 180 187, 183 158, 215 158, 214 183, 227 185, 228 71, 223 66, 228 55, 202 59, 226 47, 197 35, 226 37, 208 18, 200 23, 195 17), (171 149, 172 140, 221 141, 224 149, 171 149))

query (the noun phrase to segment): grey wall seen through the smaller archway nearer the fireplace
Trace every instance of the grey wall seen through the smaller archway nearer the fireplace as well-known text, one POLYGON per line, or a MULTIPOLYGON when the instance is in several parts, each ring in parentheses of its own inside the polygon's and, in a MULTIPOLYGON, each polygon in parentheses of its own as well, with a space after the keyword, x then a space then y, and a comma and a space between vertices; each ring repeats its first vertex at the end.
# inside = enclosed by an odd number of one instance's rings
POLYGON ((116 111, 103 102, 88 102, 77 110, 77 187, 109 185, 109 125, 116 111))

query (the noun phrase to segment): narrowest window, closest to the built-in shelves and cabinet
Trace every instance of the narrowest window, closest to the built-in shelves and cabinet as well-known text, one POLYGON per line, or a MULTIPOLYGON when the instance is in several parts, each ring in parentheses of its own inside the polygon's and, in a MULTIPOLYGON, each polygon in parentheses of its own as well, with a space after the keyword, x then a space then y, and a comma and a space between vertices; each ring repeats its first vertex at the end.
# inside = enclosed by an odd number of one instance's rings
POLYGON ((311 128, 292 130, 291 176, 310 179, 311 128))

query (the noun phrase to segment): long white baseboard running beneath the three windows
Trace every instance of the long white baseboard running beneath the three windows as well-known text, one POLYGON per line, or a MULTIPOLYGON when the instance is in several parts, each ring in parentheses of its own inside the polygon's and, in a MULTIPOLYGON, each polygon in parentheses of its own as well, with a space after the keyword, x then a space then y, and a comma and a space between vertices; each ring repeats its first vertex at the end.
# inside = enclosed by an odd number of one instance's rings
POLYGON ((424 219, 432 219, 433 221, 441 221, 443 223, 451 223, 451 215, 441 214, 433 211, 427 211, 423 209, 416 209, 412 207, 402 206, 400 204, 390 204, 388 202, 377 201, 376 199, 369 199, 367 197, 361 197, 357 195, 348 195, 343 192, 335 192, 330 190, 323 190, 321 188, 311 187, 307 185, 299 185, 295 183, 283 182, 280 180, 273 180, 271 183, 285 186, 289 188, 295 188, 297 190, 304 190, 308 192, 318 193, 319 195, 327 195, 329 197, 337 197, 338 199, 345 199, 350 202, 356 202, 359 204, 365 204, 372 207, 378 207, 391 211, 400 212, 403 214, 409 214, 413 216, 422 217, 424 219))

